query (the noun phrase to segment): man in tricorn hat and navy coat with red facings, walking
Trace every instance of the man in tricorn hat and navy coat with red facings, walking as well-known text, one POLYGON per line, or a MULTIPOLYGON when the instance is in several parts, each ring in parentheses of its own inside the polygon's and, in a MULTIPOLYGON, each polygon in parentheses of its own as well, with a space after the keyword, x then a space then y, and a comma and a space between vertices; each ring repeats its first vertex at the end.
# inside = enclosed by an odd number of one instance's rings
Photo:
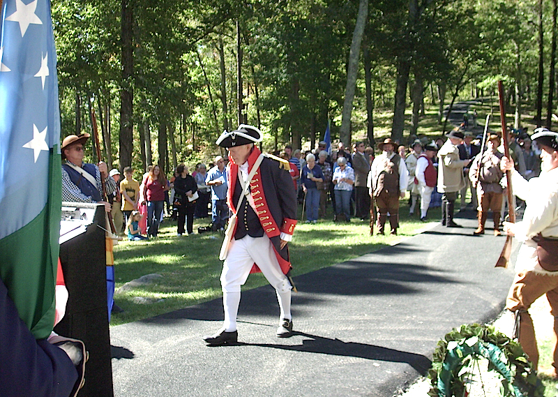
POLYGON ((296 193, 287 161, 264 156, 255 147, 261 141, 259 129, 241 124, 216 142, 229 151, 227 203, 233 216, 220 253, 225 261, 220 278, 225 322, 216 334, 204 336, 209 345, 236 343, 241 285, 253 271, 262 271, 276 290, 280 308, 276 335, 292 335, 287 243, 296 225, 296 193))

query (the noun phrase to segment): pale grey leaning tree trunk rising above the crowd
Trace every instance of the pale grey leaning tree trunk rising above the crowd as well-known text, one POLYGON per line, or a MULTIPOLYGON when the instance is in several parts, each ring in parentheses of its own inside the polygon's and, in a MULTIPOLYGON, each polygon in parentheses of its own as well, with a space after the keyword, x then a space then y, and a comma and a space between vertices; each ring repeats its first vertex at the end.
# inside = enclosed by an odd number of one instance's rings
POLYGON ((341 128, 339 130, 340 140, 345 144, 345 147, 350 147, 351 145, 351 114, 353 110, 354 91, 356 88, 356 76, 359 72, 359 55, 361 53, 362 35, 367 19, 368 0, 360 0, 359 14, 356 16, 351 50, 349 52, 345 101, 343 103, 341 128))

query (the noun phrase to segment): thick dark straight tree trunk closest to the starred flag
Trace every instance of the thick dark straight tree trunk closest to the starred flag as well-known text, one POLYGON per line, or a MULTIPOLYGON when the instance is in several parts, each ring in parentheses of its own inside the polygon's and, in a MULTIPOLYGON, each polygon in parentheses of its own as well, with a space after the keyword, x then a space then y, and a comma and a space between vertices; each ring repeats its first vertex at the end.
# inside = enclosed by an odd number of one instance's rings
POLYGON ((120 166, 132 165, 133 151, 133 1, 121 0, 122 82, 120 91, 120 166))

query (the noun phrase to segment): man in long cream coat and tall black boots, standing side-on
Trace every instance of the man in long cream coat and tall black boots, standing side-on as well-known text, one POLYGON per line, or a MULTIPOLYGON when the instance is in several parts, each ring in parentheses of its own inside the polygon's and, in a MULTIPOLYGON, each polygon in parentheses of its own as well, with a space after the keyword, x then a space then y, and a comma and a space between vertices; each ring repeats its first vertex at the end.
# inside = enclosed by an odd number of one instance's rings
POLYGON ((465 135, 457 128, 446 134, 448 140, 438 151, 438 191, 442 195, 442 225, 461 227, 453 222, 453 208, 458 192, 465 188, 463 168, 471 163, 470 159, 460 160, 458 145, 465 135))

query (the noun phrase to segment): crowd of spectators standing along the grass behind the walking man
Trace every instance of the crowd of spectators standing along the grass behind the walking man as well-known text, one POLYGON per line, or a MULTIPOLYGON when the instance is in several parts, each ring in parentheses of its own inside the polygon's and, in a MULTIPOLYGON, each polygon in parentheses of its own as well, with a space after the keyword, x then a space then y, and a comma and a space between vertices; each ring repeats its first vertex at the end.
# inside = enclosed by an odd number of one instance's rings
MULTIPOLYGON (((511 156, 516 169, 525 179, 538 176, 538 149, 531 142, 527 130, 512 130, 512 136, 511 156)), ((326 142, 320 141, 315 149, 306 151, 293 149, 291 144, 287 144, 276 155, 289 161, 293 188, 303 212, 300 218, 304 222, 317 223, 319 219, 326 219, 330 212, 335 222, 349 222, 352 218, 369 221, 372 199, 379 232, 384 232, 384 225, 389 220, 391 233, 396 234, 400 223, 399 202, 407 192, 409 216, 427 221, 428 209, 442 206, 442 223, 450 217, 449 224, 455 225, 453 205, 461 197, 458 210, 467 206, 478 209, 479 223, 484 224, 486 211, 483 211, 483 216, 480 215, 483 206, 478 201, 478 197, 483 195, 483 190, 478 189, 482 182, 476 177, 478 162, 474 165, 474 159, 481 153, 480 141, 480 136, 461 126, 435 140, 412 136, 408 145, 385 140, 377 144, 377 151, 367 146, 366 142, 355 142, 352 151, 349 151, 343 142, 339 142, 334 150, 328 152, 326 142), (458 132, 457 135, 455 132, 458 132), (450 140, 454 144, 448 147, 450 140), (439 159, 446 159, 447 162, 447 149, 440 152, 442 147, 455 147, 458 158, 454 161, 463 164, 460 172, 465 185, 459 186, 455 197, 454 192, 444 192, 444 181, 439 179, 439 173, 444 172, 439 170, 439 159), (465 197, 470 197, 470 201, 465 197), (448 214, 448 206, 451 214, 448 214)), ((494 143, 495 140, 488 142, 494 143)), ((486 150, 483 152, 487 153, 486 150)), ((163 204, 169 201, 172 210, 167 210, 167 213, 173 220, 178 220, 176 234, 179 237, 193 233, 193 220, 196 218, 211 216, 210 226, 204 229, 224 230, 229 217, 226 163, 227 159, 217 156, 209 167, 197 163, 192 174, 186 165, 181 164, 168 180, 160 167, 153 165, 144 174, 141 186, 133 179, 130 167, 123 170, 124 178, 120 181, 119 172, 112 170, 110 176, 120 184, 119 191, 110 197, 113 200, 113 218, 122 225, 121 232, 128 234, 130 240, 138 240, 140 238, 135 234, 130 236, 128 222, 132 212, 138 211, 140 233, 137 235, 146 234, 146 237, 153 238, 157 236, 158 225, 163 220, 163 204)), ((452 185, 449 189, 454 188, 452 185)), ((502 195, 502 205, 489 206, 494 212, 495 233, 498 230, 496 224, 500 221, 497 213, 504 211, 504 207, 505 195, 502 195)), ((476 232, 481 231, 483 227, 479 225, 476 232)))

